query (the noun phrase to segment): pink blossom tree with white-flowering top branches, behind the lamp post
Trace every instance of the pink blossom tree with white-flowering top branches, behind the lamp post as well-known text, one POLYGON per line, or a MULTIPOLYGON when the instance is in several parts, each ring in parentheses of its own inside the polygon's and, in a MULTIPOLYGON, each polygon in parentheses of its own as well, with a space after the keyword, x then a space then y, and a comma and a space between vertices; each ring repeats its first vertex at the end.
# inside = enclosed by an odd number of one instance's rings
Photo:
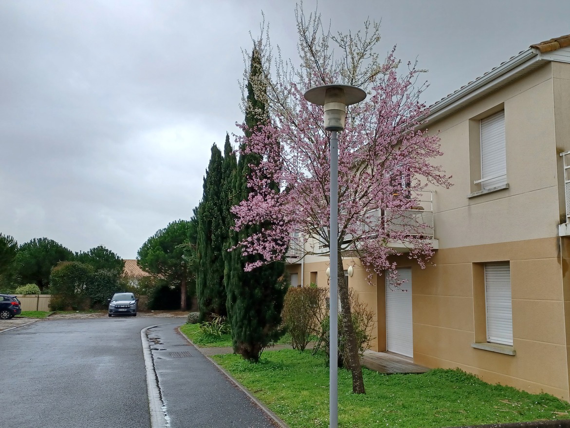
MULTIPOLYGON (((238 245, 244 255, 261 260, 246 265, 283 260, 288 248, 304 255, 323 254, 331 239, 338 243, 338 289, 348 346, 353 392, 364 393, 364 382, 352 325, 349 290, 344 282, 342 255, 360 259, 371 283, 385 272, 397 282, 392 241, 404 243, 408 256, 423 268, 433 255, 430 241, 422 237, 426 225, 410 221, 410 209, 419 205, 417 192, 427 185, 448 187, 449 177, 433 163, 441 155, 439 138, 427 134, 428 110, 420 101, 426 84, 417 86, 419 70, 408 63, 405 71, 394 56, 385 60, 376 53, 379 26, 365 22, 356 34, 332 36, 323 31, 320 15, 306 17, 296 10, 299 32, 299 68, 271 55, 266 37, 258 42, 264 54, 263 84, 267 88, 270 120, 251 136, 239 137, 243 153, 262 157, 251 165, 248 186, 255 189, 233 208, 235 228, 271 225, 238 245), (329 48, 336 45, 340 59, 329 48), (367 91, 364 102, 349 107, 347 124, 339 132, 338 236, 329 236, 329 138, 323 129, 323 108, 308 103, 304 92, 322 84, 352 84, 367 91), (267 184, 275 181, 280 191, 267 184), (398 227, 405 224, 405 227, 398 227), (295 233, 294 232, 300 232, 295 233), (298 236, 292 239, 292 236, 298 236)), ((243 126, 245 127, 245 126, 243 126)), ((332 364, 332 362, 331 362, 332 364)))

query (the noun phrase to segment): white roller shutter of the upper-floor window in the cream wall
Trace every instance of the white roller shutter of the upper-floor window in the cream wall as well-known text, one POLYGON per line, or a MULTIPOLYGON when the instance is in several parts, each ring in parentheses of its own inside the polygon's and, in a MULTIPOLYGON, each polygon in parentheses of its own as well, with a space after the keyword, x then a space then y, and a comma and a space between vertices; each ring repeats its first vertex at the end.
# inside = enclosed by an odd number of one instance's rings
POLYGON ((507 183, 504 110, 481 119, 481 179, 483 189, 507 183))

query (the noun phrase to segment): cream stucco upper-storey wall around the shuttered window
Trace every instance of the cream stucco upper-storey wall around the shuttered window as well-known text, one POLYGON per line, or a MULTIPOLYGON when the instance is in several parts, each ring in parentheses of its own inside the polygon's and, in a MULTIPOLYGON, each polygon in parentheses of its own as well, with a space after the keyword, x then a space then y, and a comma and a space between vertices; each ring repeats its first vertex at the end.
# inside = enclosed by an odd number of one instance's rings
POLYGON ((444 155, 437 161, 453 175, 454 184, 450 189, 435 189, 435 237, 439 248, 557 235, 561 214, 557 146, 570 150, 570 144, 568 138, 557 137, 568 131, 568 120, 564 120, 560 131, 553 127, 552 72, 547 64, 449 118, 430 124, 430 132, 439 131, 441 138, 444 155), (467 198, 473 191, 474 179, 480 178, 470 167, 474 163, 470 144, 477 146, 477 142, 470 142, 470 126, 477 126, 479 119, 502 106, 510 187, 467 198))

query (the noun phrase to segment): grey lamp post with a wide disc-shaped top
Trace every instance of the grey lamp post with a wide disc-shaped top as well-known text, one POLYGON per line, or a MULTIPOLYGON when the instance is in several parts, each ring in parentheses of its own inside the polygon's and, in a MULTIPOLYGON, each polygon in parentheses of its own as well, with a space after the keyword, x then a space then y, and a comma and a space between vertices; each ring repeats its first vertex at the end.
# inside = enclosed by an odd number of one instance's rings
POLYGON ((331 132, 331 224, 329 248, 331 252, 331 297, 329 304, 329 428, 337 428, 338 418, 338 371, 337 353, 339 337, 339 281, 338 281, 338 245, 339 245, 339 140, 337 131, 344 130, 347 106, 361 102, 366 92, 355 86, 327 84, 317 86, 305 92, 305 99, 318 106, 324 106, 324 129, 331 132))

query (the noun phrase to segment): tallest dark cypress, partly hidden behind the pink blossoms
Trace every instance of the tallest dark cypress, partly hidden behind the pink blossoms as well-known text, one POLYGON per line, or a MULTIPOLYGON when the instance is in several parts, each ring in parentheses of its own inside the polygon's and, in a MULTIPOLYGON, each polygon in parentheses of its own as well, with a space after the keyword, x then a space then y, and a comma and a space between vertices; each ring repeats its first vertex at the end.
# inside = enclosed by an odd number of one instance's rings
MULTIPOLYGON (((262 64, 259 51, 255 49, 251 55, 250 74, 247 83, 246 99, 246 142, 255 128, 268 118, 263 99, 258 99, 253 85, 259 88, 262 64)), ((262 91, 263 92, 263 91, 262 91)), ((258 91, 257 94, 260 92, 258 91)), ((247 143, 244 143, 247 144, 247 143)), ((234 204, 247 199, 251 188, 247 186, 250 176, 250 164, 258 164, 261 158, 258 154, 245 154, 241 147, 237 170, 233 179, 234 204)), ((278 188, 276 183, 270 184, 278 188)), ((242 239, 250 236, 262 227, 271 225, 255 225, 231 232, 231 243, 236 245, 242 239)), ((258 267, 251 272, 245 272, 243 267, 247 261, 258 260, 257 256, 242 256, 241 249, 231 252, 228 273, 226 277, 227 309, 231 324, 231 334, 234 352, 241 354, 246 360, 257 362, 263 349, 282 335, 280 330, 281 310, 287 292, 286 286, 279 278, 283 276, 284 263, 271 263, 258 267)))

